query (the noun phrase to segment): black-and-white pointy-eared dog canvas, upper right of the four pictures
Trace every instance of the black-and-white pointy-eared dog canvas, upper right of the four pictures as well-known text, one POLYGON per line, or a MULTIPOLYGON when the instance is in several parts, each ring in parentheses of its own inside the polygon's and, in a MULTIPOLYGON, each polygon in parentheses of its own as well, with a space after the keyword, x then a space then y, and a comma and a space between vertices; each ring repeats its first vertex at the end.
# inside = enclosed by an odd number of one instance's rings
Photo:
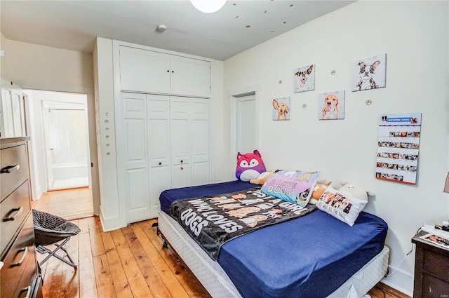
POLYGON ((352 91, 384 88, 387 81, 387 54, 352 63, 352 91))

